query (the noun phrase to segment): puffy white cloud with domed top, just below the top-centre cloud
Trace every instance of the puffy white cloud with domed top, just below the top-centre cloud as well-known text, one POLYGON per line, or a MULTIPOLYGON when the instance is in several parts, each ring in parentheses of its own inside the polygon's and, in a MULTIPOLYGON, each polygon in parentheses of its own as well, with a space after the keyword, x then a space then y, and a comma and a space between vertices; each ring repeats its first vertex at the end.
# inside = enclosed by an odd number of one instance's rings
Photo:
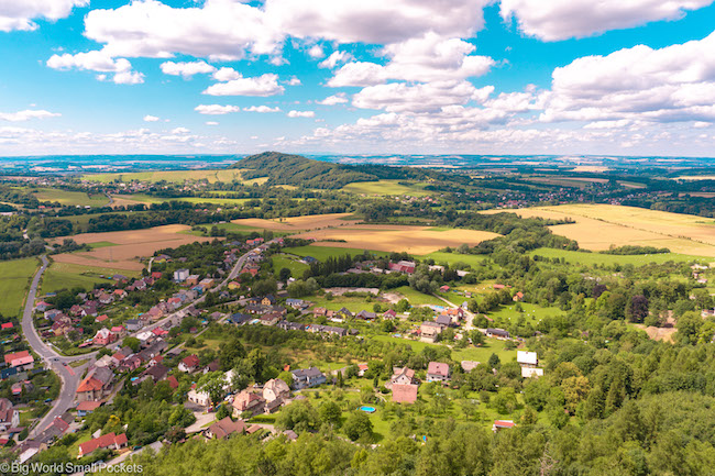
POLYGON ((475 49, 474 45, 463 40, 428 33, 385 46, 383 54, 391 58, 385 66, 375 63, 344 65, 328 81, 328 86, 371 86, 388 79, 436 81, 482 76, 495 62, 488 56, 472 55, 475 49))

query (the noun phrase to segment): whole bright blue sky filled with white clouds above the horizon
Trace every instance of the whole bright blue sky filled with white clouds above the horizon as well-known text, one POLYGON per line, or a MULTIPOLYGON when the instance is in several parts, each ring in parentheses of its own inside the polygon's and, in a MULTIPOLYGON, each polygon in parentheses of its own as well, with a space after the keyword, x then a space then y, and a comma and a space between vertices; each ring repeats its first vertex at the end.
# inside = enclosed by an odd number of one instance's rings
POLYGON ((0 0, 0 155, 715 155, 715 0, 0 0))

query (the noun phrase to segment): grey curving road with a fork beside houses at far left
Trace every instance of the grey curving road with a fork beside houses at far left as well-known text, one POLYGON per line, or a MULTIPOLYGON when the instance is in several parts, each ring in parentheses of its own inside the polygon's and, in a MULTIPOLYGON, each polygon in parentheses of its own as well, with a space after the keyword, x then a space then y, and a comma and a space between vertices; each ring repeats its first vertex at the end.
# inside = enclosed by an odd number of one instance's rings
POLYGON ((40 355, 47 367, 52 368, 53 372, 57 374, 62 380, 62 388, 59 390, 59 398, 55 400, 52 409, 47 412, 47 414, 37 424, 35 424, 35 427, 30 432, 30 436, 34 436, 35 434, 40 433, 50 423, 52 423, 55 417, 62 416, 69 408, 72 408, 73 401, 75 399, 75 391, 77 390, 79 381, 81 381, 81 375, 88 364, 72 368, 69 367, 69 363, 85 358, 91 362, 97 354, 96 352, 92 352, 91 354, 76 355, 73 357, 59 355, 57 352, 52 350, 52 347, 46 345, 37 334, 32 319, 32 310, 35 303, 35 297, 37 296, 37 286, 40 284, 40 278, 50 265, 50 262, 45 255, 42 255, 41 259, 42 266, 32 278, 30 291, 28 292, 28 300, 25 302, 25 309, 22 314, 22 332, 25 335, 25 339, 28 340, 28 343, 32 350, 37 355, 40 355))

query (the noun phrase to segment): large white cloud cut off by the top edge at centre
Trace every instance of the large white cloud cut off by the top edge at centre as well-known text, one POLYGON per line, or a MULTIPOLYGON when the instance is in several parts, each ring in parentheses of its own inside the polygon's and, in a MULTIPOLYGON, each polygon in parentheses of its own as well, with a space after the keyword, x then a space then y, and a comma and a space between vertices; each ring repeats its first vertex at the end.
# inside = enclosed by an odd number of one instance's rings
POLYGON ((339 43, 397 43, 436 32, 471 35, 487 0, 267 0, 266 16, 297 37, 339 43))

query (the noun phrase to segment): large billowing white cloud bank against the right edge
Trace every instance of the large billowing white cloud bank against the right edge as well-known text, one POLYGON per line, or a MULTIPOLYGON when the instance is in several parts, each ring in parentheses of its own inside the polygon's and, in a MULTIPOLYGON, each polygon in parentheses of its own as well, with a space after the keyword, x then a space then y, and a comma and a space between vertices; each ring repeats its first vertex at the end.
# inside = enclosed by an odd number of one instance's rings
POLYGON ((542 121, 715 119, 715 32, 660 49, 586 56, 553 70, 542 121))

